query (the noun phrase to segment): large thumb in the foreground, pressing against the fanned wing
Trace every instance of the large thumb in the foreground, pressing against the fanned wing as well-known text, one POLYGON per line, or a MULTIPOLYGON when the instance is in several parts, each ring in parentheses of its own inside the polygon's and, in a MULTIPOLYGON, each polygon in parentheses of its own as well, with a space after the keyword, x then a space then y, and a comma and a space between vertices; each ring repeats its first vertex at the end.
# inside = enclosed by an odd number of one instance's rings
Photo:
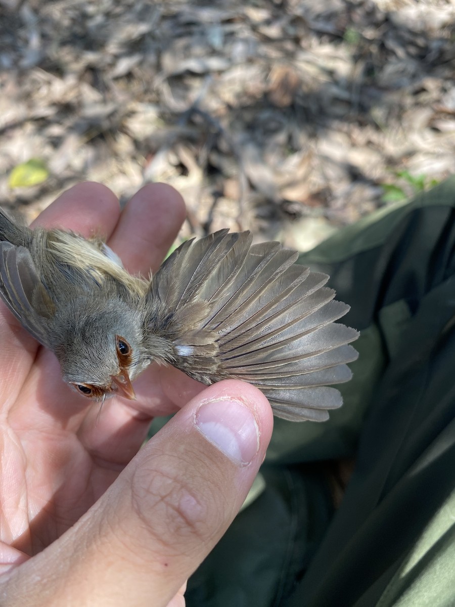
POLYGON ((212 385, 141 449, 78 523, 18 569, 25 574, 35 561, 36 592, 42 559, 52 588, 46 605, 133 607, 152 600, 165 607, 240 509, 272 424, 257 388, 232 380, 212 385))

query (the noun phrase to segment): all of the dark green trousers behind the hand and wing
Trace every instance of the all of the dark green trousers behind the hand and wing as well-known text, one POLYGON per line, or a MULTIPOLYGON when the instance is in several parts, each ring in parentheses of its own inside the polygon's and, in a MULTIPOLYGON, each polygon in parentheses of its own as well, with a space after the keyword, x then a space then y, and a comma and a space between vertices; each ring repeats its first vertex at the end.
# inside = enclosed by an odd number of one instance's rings
POLYGON ((303 254, 361 330, 345 404, 278 419, 265 487, 190 579, 188 607, 455 605, 455 178, 303 254), (328 459, 356 457, 340 508, 328 459))

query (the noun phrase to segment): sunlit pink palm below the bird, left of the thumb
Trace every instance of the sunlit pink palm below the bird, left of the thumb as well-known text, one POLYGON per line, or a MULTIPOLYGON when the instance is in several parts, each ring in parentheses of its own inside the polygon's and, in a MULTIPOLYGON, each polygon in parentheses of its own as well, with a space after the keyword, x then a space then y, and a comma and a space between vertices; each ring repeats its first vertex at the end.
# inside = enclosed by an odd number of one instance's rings
POLYGON ((36 344, 28 336, 16 336, 14 343, 12 333, 9 339, 2 336, 14 347, 13 355, 8 351, 11 371, 2 404, 0 448, 7 473, 2 475, 1 539, 32 555, 96 501, 121 465, 96 458, 84 444, 90 404, 63 384, 52 354, 41 347, 34 353, 36 344))

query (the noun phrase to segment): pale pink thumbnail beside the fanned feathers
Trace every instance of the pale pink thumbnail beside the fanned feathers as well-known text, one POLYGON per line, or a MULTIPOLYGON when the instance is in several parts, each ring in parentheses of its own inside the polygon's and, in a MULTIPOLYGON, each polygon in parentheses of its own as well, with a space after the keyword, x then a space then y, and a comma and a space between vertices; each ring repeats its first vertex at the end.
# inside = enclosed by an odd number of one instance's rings
POLYGON ((207 441, 235 463, 249 464, 259 450, 257 422, 238 401, 204 403, 196 412, 195 423, 207 441))

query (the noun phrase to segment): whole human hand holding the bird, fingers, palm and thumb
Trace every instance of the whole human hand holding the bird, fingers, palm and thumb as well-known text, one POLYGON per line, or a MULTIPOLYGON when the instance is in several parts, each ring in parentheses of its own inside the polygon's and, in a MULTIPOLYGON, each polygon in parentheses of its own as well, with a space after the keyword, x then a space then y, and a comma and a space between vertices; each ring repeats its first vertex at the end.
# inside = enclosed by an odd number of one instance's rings
MULTIPOLYGON (((147 274, 183 218, 168 186, 145 186, 120 212, 112 192, 84 183, 37 223, 98 229, 127 270, 147 274)), ((1 604, 183 605, 178 589, 237 514, 265 455, 265 396, 238 381, 203 390, 152 366, 135 382, 137 401, 100 409, 69 390, 55 356, 3 305, 0 340, 1 604), (135 455, 153 416, 180 407, 135 455)))

